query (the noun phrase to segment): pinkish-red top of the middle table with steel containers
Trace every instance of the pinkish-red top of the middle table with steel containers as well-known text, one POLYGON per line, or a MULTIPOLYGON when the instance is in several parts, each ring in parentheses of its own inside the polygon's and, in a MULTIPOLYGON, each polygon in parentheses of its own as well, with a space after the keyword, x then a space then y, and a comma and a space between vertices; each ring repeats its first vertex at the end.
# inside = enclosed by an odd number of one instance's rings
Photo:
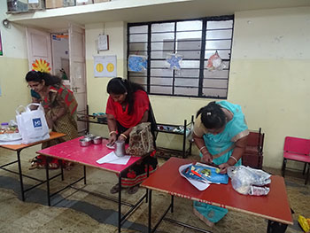
POLYGON ((101 168, 116 174, 120 174, 121 171, 127 167, 130 167, 132 164, 136 163, 137 160, 141 159, 141 157, 132 156, 126 165, 109 163, 98 164, 96 162, 97 159, 100 159, 113 151, 105 146, 108 141, 103 140, 102 144, 91 144, 89 146, 82 147, 80 146, 79 142, 80 138, 81 137, 75 138, 62 144, 50 146, 41 151, 37 151, 37 153, 57 159, 64 159, 66 161, 79 163, 89 167, 101 168))

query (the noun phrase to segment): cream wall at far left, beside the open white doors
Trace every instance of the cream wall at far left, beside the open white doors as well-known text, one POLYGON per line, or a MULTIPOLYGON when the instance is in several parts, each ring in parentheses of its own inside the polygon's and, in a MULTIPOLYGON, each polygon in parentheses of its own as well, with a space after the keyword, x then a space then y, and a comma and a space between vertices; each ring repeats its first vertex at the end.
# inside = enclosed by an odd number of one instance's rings
MULTIPOLYGON (((6 19, 6 1, 0 1, 0 22, 6 19)), ((0 121, 15 119, 15 109, 30 101, 25 80, 28 71, 25 28, 0 24, 4 56, 0 56, 0 121)))

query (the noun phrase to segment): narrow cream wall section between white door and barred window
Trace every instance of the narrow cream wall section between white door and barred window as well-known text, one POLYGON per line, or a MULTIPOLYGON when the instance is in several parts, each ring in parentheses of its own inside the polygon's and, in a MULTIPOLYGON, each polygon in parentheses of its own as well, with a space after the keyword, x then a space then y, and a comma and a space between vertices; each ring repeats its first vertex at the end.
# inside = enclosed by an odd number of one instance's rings
MULTIPOLYGON (((117 56, 117 75, 127 76, 126 69, 126 23, 111 22, 101 24, 91 24, 85 27, 86 42, 86 74, 89 113, 105 113, 105 103, 107 101, 106 85, 111 78, 94 77, 93 56, 117 56), (109 35, 109 50, 97 52, 98 35, 109 35)), ((105 126, 91 125, 90 131, 97 135, 107 136, 108 131, 105 126)))

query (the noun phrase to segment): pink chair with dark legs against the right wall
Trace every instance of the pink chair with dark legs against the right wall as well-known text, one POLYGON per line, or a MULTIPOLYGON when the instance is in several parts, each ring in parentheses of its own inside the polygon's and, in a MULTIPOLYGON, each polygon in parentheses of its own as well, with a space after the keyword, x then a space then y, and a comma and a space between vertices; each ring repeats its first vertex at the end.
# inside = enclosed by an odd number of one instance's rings
POLYGON ((310 139, 298 138, 293 136, 285 137, 282 166, 283 177, 285 173, 287 159, 305 163, 303 175, 305 175, 306 167, 308 167, 306 172, 306 184, 309 179, 310 170, 310 139))

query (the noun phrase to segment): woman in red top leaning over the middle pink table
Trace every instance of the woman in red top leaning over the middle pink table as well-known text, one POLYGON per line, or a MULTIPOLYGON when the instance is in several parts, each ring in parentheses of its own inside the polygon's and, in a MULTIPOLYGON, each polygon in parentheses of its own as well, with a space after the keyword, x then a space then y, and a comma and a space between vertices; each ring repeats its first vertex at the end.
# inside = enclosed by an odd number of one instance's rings
MULTIPOLYGON (((107 85, 108 98, 105 113, 107 114, 109 144, 116 140, 128 142, 129 134, 133 127, 141 122, 154 123, 149 97, 143 87, 128 80, 113 78, 107 85)), ((130 167, 124 177, 121 177, 121 187, 129 188, 128 193, 133 194, 138 190, 138 184, 146 179, 147 164, 150 174, 158 167, 155 151, 151 156, 144 157, 135 166, 130 167)), ((119 184, 112 187, 111 193, 119 191, 119 184)))

